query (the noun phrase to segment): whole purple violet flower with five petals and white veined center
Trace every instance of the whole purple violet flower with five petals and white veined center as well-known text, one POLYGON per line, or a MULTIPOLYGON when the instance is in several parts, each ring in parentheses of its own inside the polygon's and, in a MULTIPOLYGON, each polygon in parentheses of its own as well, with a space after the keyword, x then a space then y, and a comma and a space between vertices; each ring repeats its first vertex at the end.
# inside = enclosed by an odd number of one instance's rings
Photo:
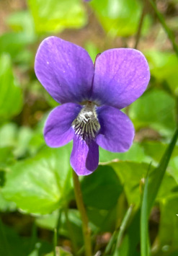
POLYGON ((78 45, 58 37, 40 44, 35 73, 43 87, 61 103, 45 123, 45 142, 59 147, 74 140, 71 167, 77 175, 97 169, 99 146, 127 151, 133 123, 120 111, 145 91, 150 73, 143 54, 134 49, 106 50, 92 63, 78 45))

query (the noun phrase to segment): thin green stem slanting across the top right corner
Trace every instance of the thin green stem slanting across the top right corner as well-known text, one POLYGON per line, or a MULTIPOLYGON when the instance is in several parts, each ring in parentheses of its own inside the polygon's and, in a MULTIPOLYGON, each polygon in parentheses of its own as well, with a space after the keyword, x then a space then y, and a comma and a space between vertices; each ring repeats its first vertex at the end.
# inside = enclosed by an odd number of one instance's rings
POLYGON ((153 2, 153 0, 149 0, 149 1, 151 3, 151 6, 153 7, 154 12, 156 13, 156 16, 159 19, 159 22, 161 23, 161 25, 164 28, 167 36, 169 37, 169 40, 172 43, 172 47, 174 49, 174 52, 176 53, 177 58, 178 58, 178 45, 175 41, 175 37, 174 37, 174 34, 173 34, 172 30, 170 30, 169 27, 166 25, 166 22, 164 20, 164 16, 159 12, 159 10, 157 9, 156 4, 153 2))

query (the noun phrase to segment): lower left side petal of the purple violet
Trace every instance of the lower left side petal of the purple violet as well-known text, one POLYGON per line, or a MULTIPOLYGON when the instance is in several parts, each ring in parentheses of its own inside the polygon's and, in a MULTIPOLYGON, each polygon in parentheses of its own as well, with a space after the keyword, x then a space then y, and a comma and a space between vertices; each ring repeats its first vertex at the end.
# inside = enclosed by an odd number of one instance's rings
POLYGON ((45 142, 48 146, 64 146, 74 138, 74 128, 71 124, 80 110, 80 105, 66 103, 50 112, 44 129, 45 142))

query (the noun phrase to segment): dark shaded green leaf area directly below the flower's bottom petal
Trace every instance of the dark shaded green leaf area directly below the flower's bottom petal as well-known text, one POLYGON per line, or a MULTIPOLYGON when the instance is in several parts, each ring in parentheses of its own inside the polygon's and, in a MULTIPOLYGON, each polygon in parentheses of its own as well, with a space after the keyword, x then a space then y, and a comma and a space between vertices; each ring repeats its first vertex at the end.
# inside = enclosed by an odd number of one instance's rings
POLYGON ((112 167, 99 166, 84 177, 81 190, 86 206, 108 210, 116 205, 123 187, 112 167))

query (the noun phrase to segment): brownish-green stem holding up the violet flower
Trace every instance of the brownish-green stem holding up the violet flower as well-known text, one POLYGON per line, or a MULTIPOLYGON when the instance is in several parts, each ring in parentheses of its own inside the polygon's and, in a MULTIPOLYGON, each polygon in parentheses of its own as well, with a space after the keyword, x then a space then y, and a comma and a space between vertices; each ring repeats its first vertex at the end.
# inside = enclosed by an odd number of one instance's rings
POLYGON ((73 170, 73 182, 74 182, 74 192, 76 196, 76 205, 79 209, 81 214, 81 221, 82 221, 82 230, 84 235, 84 247, 85 247, 85 255, 91 256, 92 255, 92 246, 91 246, 91 239, 90 239, 90 230, 88 224, 88 217, 86 215, 86 210, 84 208, 84 202, 81 194, 81 187, 79 182, 79 177, 76 175, 76 172, 73 170))

